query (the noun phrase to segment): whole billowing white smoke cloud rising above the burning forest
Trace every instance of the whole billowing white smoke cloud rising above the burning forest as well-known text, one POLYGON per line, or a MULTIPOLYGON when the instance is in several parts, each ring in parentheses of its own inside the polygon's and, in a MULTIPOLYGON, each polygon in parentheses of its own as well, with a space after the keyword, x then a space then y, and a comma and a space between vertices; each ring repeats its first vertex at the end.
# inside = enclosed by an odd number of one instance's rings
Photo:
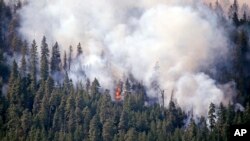
POLYGON ((166 89, 165 101, 174 89, 185 111, 206 116, 211 102, 232 100, 227 92, 233 88, 225 90, 202 72, 227 56, 228 41, 217 16, 194 1, 32 0, 19 11, 19 31, 28 41, 43 35, 51 46, 58 41, 61 52, 81 42, 83 55, 69 72, 74 82, 96 77, 112 91, 116 81, 132 75, 156 97, 151 84, 157 81, 166 89))

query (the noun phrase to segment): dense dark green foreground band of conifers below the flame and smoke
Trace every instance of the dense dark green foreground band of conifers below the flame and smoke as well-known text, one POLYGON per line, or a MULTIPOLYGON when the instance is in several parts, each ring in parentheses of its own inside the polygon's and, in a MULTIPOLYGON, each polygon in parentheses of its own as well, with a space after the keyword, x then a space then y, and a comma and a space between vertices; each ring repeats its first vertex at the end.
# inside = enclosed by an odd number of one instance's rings
POLYGON ((183 121, 188 115, 173 98, 167 109, 159 104, 145 106, 144 90, 140 87, 137 93, 128 93, 124 101, 115 102, 109 91, 99 90, 97 79, 89 86, 89 93, 87 88, 73 87, 67 73, 62 86, 55 86, 49 76, 39 82, 34 97, 29 97, 27 86, 31 83, 21 84, 25 78, 20 77, 14 61, 9 99, 1 98, 7 105, 0 107, 3 140, 226 140, 228 123, 249 122, 249 106, 244 113, 235 113, 231 105, 216 107, 211 103, 208 112, 211 130, 205 118, 199 122, 191 118, 185 127, 183 121), (27 99, 33 103, 31 108, 25 104, 27 99))

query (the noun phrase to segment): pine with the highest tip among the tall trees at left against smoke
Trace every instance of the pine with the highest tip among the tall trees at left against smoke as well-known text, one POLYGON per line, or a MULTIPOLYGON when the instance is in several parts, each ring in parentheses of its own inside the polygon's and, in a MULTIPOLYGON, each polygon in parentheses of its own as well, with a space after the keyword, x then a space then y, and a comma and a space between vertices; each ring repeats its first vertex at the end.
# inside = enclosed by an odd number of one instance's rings
POLYGON ((43 81, 47 80, 49 76, 49 48, 48 44, 46 43, 46 37, 43 36, 42 45, 41 45, 41 61, 40 61, 40 73, 41 79, 43 81))

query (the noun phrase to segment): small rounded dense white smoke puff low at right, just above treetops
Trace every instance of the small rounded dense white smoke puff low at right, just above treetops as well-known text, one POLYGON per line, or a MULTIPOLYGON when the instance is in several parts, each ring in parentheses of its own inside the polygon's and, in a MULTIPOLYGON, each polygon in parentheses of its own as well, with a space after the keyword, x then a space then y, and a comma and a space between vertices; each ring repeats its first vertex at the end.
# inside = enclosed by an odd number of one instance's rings
POLYGON ((227 105, 236 96, 234 87, 234 83, 217 86, 215 80, 204 73, 188 73, 177 81, 175 96, 185 111, 192 111, 193 115, 206 115, 204 107, 209 107, 211 102, 227 105))

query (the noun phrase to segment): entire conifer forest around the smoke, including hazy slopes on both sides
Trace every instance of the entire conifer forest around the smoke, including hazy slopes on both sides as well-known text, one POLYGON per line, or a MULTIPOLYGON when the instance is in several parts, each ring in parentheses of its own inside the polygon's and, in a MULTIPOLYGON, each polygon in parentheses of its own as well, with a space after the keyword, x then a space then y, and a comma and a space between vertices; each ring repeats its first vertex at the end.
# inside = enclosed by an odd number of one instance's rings
POLYGON ((114 90, 103 89, 98 78, 74 82, 68 73, 82 44, 61 52, 46 35, 41 42, 24 40, 18 11, 25 4, 0 0, 1 141, 227 141, 231 125, 250 124, 250 15, 240 16, 237 0, 224 15, 218 1, 208 6, 222 27, 233 27, 227 32, 231 66, 218 66, 216 79, 234 80, 237 95, 228 105, 211 102, 198 117, 179 106, 174 91, 165 103, 150 98, 133 76, 114 90))

